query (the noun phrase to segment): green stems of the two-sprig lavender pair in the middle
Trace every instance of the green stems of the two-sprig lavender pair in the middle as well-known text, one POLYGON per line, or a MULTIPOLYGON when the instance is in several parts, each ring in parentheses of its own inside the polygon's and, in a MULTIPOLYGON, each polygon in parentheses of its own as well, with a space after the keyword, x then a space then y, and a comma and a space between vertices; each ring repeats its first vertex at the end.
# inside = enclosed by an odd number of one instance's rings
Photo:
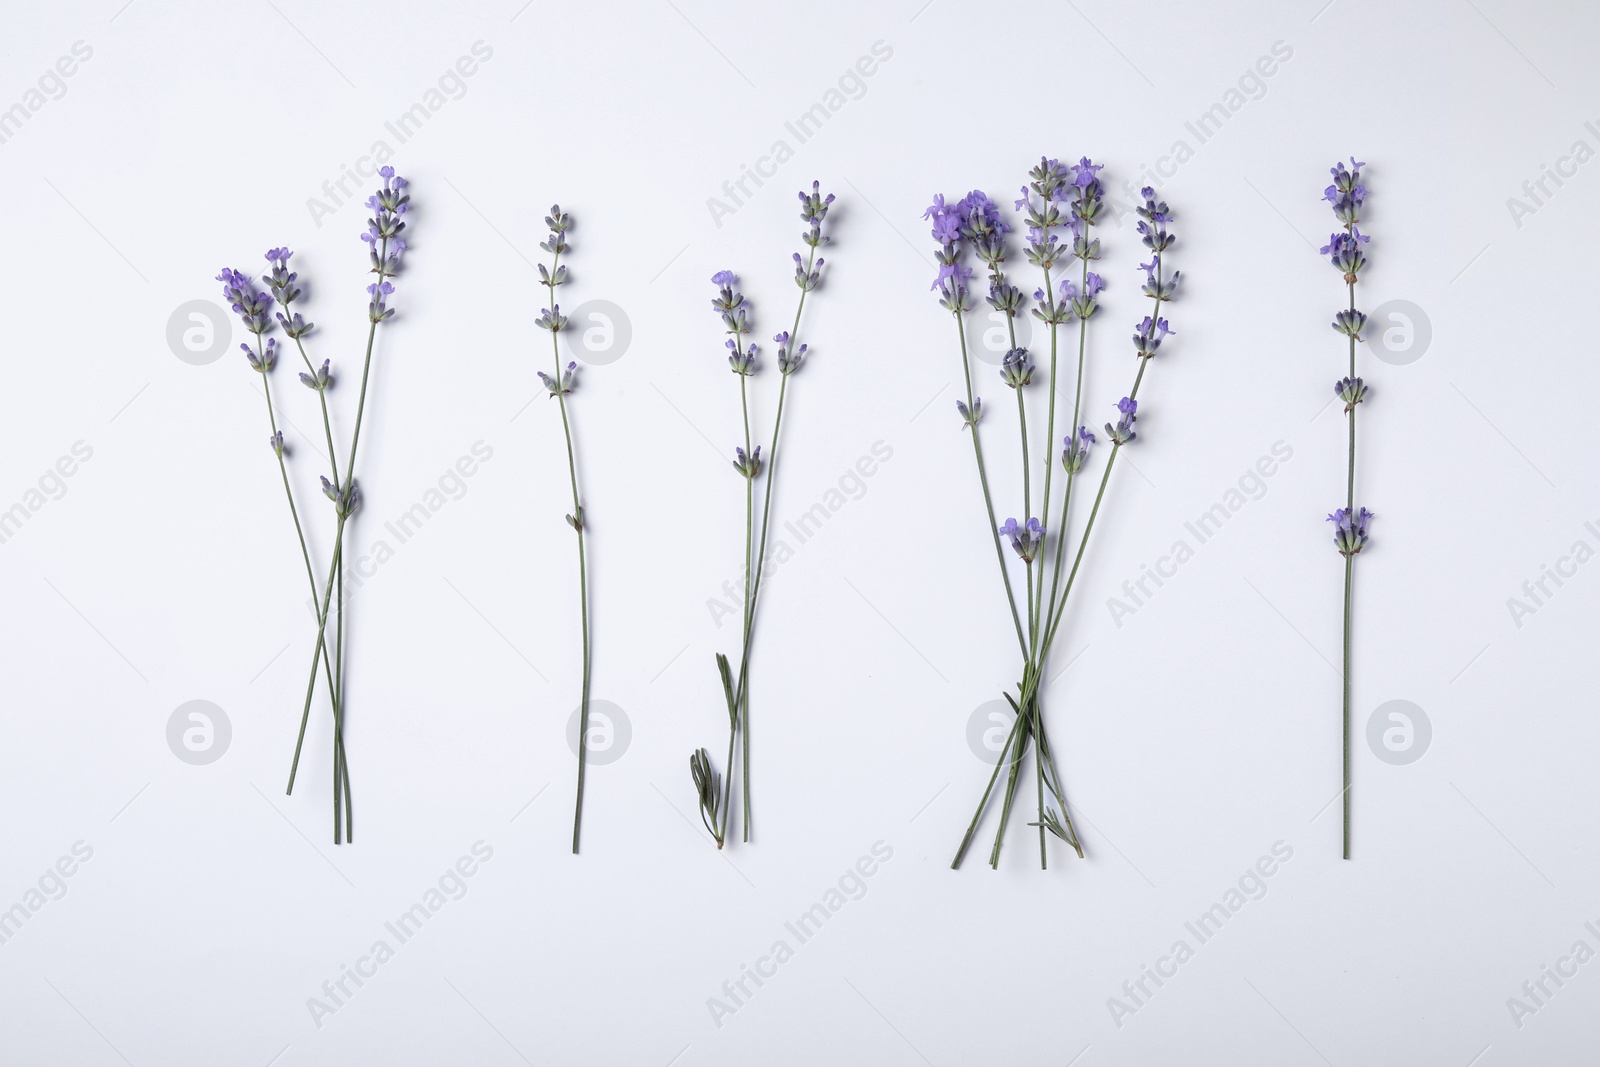
MULTIPOLYGON (((805 261, 805 277, 811 277, 811 264, 816 259, 816 246, 811 245, 806 251, 805 261)), ((806 285, 800 286, 800 301, 795 304, 795 322, 789 330, 789 354, 794 357, 800 350, 800 315, 805 312, 805 298, 811 290, 806 285)), ((749 390, 746 384, 749 381, 747 374, 739 376, 739 405, 744 414, 744 454, 750 454, 750 405, 749 390)), ((768 517, 773 510, 773 482, 778 480, 778 434, 784 426, 784 397, 789 392, 789 373, 779 373, 778 382, 778 414, 773 418, 773 440, 766 448, 766 490, 763 491, 762 501, 762 537, 755 547, 755 566, 750 566, 750 549, 755 542, 755 526, 752 520, 755 518, 755 486, 752 478, 746 478, 744 483, 744 635, 739 641, 739 681, 731 689, 728 696, 728 774, 722 785, 722 817, 717 819, 715 829, 707 824, 712 830, 712 837, 717 841, 717 848, 722 848, 728 840, 728 813, 731 806, 733 792, 733 752, 734 741, 741 742, 741 774, 742 774, 742 795, 744 795, 744 841, 750 840, 750 640, 755 633, 755 601, 762 593, 762 571, 766 563, 766 533, 768 533, 768 517)), ((998 536, 998 534, 997 534, 998 536)), ((1018 630, 1021 633, 1021 630, 1018 630)), ((726 657, 718 657, 718 669, 725 670, 726 657)), ((728 688, 726 673, 723 677, 723 688, 728 688)), ((706 821, 706 813, 701 813, 701 821, 706 821)))

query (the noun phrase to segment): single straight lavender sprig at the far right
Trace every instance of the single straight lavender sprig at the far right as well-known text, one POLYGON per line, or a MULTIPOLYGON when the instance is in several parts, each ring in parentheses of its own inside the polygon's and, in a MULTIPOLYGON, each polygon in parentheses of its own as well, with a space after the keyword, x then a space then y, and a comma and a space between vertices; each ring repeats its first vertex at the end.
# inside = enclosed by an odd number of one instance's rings
POLYGON ((1333 205, 1333 216, 1344 229, 1334 230, 1328 243, 1322 246, 1322 254, 1328 256, 1334 270, 1344 275, 1344 286, 1349 296, 1344 310, 1333 317, 1333 328, 1342 333, 1350 344, 1350 373, 1333 384, 1333 395, 1344 402, 1344 418, 1350 430, 1349 462, 1344 478, 1344 507, 1334 509, 1328 515, 1333 523, 1333 544, 1344 557, 1344 857, 1350 857, 1350 593, 1354 587, 1355 555, 1366 544, 1366 528, 1373 514, 1365 507, 1355 507, 1355 405, 1366 400, 1366 382, 1355 376, 1355 342, 1362 341, 1362 326, 1366 315, 1355 310, 1355 280, 1366 266, 1366 254, 1362 245, 1368 237, 1357 224, 1362 221, 1362 205, 1366 202, 1366 186, 1362 184, 1362 168, 1350 157, 1350 168, 1334 163, 1330 173, 1333 184, 1323 190, 1323 200, 1333 205))

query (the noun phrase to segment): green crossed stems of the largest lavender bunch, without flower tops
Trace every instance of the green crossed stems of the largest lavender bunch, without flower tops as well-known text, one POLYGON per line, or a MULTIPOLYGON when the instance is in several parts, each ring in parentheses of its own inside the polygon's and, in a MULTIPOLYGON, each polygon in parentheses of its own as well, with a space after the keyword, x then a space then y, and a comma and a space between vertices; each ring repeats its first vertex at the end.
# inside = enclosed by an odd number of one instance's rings
MULTIPOLYGON (((1088 258, 1083 258, 1083 267, 1082 269, 1083 269, 1083 282, 1086 283, 1086 280, 1088 280, 1088 258)), ((1162 310, 1162 296, 1160 296, 1160 293, 1162 293, 1162 262, 1160 262, 1160 256, 1155 258, 1155 286, 1154 288, 1155 288, 1155 298, 1154 298, 1154 307, 1150 310, 1152 322, 1155 322, 1155 320, 1160 318, 1160 310, 1162 310)), ((1051 291, 1050 290, 1050 270, 1048 269, 1045 270, 1045 291, 1046 293, 1051 291)), ((1014 339, 1016 334, 1014 334, 1013 318, 1014 318, 1013 314, 1006 312, 1006 326, 1013 331, 1011 333, 1013 347, 1016 347, 1016 339, 1014 339)), ((957 331, 962 336, 962 370, 966 374, 968 408, 971 408, 971 400, 973 400, 971 398, 971 370, 970 370, 970 362, 968 362, 968 355, 966 355, 966 336, 965 336, 965 331, 962 331, 960 312, 955 312, 955 322, 957 322, 957 331)), ((1077 434, 1078 418, 1080 418, 1080 413, 1082 413, 1082 397, 1083 397, 1083 352, 1085 352, 1085 341, 1086 341, 1086 333, 1088 333, 1086 326, 1088 326, 1088 322, 1086 320, 1080 320, 1080 323, 1078 323, 1078 378, 1077 378, 1077 390, 1075 390, 1074 402, 1072 402, 1072 432, 1074 434, 1077 434)), ((1056 334, 1058 334, 1056 323, 1051 323, 1051 328, 1050 328, 1050 389, 1051 389, 1051 398, 1050 398, 1050 424, 1048 424, 1046 453, 1045 453, 1045 458, 1046 458, 1046 469, 1045 469, 1045 512, 1046 514, 1050 510, 1050 475, 1053 474, 1053 467, 1048 466, 1048 461, 1050 461, 1051 451, 1054 448, 1054 408, 1056 408, 1054 389, 1056 389, 1056 352, 1058 352, 1058 338, 1056 338, 1056 334)), ((1139 360, 1139 371, 1138 371, 1138 374, 1133 379, 1133 389, 1128 390, 1128 397, 1131 400, 1138 400, 1138 397, 1139 397, 1139 386, 1144 382, 1144 370, 1147 366, 1147 358, 1149 357, 1144 357, 1144 358, 1139 360)), ((1021 402, 1021 395, 1019 395, 1019 402, 1021 402)), ((976 454, 976 459, 978 459, 978 474, 979 474, 979 480, 984 485, 984 504, 986 504, 987 512, 989 512, 989 528, 994 530, 994 531, 997 531, 995 533, 995 553, 997 553, 997 557, 1000 560, 1000 573, 1002 573, 1002 577, 1005 579, 1006 598, 1010 600, 1010 605, 1011 605, 1011 616, 1013 616, 1013 621, 1016 621, 1016 597, 1011 592, 1011 577, 1010 577, 1010 571, 1005 566, 1005 552, 1000 550, 1000 536, 998 536, 998 528, 995 525, 994 504, 992 504, 990 494, 989 494, 989 478, 987 478, 987 474, 984 472, 982 448, 978 443, 978 427, 973 426, 971 429, 973 429, 973 448, 974 448, 974 454, 976 454)), ((1000 811, 1000 827, 995 832, 995 843, 994 843, 994 848, 990 849, 990 854, 989 854, 989 865, 990 867, 998 867, 998 864, 1000 864, 1000 846, 1002 846, 1003 838, 1005 838, 1005 827, 1006 827, 1006 822, 1010 821, 1010 816, 1011 816, 1011 803, 1016 798, 1016 785, 1018 785, 1018 777, 1019 777, 1019 771, 1021 771, 1022 753, 1026 752, 1027 742, 1030 739, 1034 741, 1034 763, 1035 763, 1035 774, 1037 774, 1037 779, 1038 779, 1038 824, 1037 825, 1038 825, 1038 862, 1040 862, 1040 867, 1046 865, 1046 853, 1045 853, 1045 832, 1046 830, 1051 830, 1058 837, 1061 837, 1062 840, 1066 840, 1072 846, 1072 849, 1078 854, 1078 857, 1083 856, 1083 846, 1082 846, 1082 843, 1078 840, 1077 829, 1072 825, 1072 813, 1070 813, 1070 809, 1067 806, 1066 790, 1062 789, 1062 785, 1061 785, 1061 776, 1056 771, 1054 753, 1051 752, 1051 747, 1050 747, 1050 737, 1045 734, 1043 712, 1042 712, 1040 701, 1038 701, 1038 686, 1040 686, 1040 680, 1043 678, 1045 664, 1050 659, 1050 649, 1054 645, 1056 632, 1058 632, 1058 629, 1061 625, 1061 619, 1066 614, 1067 598, 1070 597, 1072 585, 1077 581, 1078 566, 1083 563, 1083 552, 1088 549, 1090 534, 1094 531, 1094 520, 1099 517, 1101 501, 1106 496, 1106 485, 1110 482, 1110 472, 1112 472, 1112 469, 1117 464, 1117 453, 1120 450, 1122 450, 1122 442, 1112 442, 1112 453, 1110 453, 1110 458, 1106 461, 1106 470, 1101 474, 1099 490, 1094 494, 1094 506, 1090 509, 1088 523, 1085 525, 1083 534, 1078 539, 1078 549, 1077 549, 1077 553, 1074 555, 1074 560, 1072 560, 1072 569, 1067 574, 1067 584, 1066 584, 1066 587, 1061 589, 1061 595, 1058 598, 1056 589, 1058 589, 1058 585, 1061 582, 1061 565, 1066 560, 1067 514, 1069 514, 1069 507, 1070 507, 1070 502, 1072 502, 1072 483, 1074 483, 1074 478, 1075 478, 1075 472, 1067 470, 1067 485, 1066 485, 1066 491, 1064 491, 1062 501, 1061 501, 1061 522, 1058 525, 1058 530, 1061 533, 1058 534, 1058 542, 1056 542, 1054 577, 1051 579, 1050 598, 1046 600, 1043 597, 1043 582, 1045 582, 1043 571, 1045 571, 1045 568, 1040 566, 1040 571, 1038 571, 1038 595, 1034 593, 1032 587, 1029 589, 1029 603, 1030 603, 1030 611, 1029 611, 1029 616, 1030 616, 1029 617, 1029 633, 1030 633, 1030 641, 1027 641, 1027 643, 1022 641, 1021 625, 1018 625, 1018 641, 1022 643, 1022 654, 1024 654, 1022 681, 1018 686, 1021 699, 1013 699, 1010 693, 1005 694, 1006 701, 1011 704, 1013 710, 1016 712, 1016 718, 1011 723, 1011 731, 1006 736, 1005 745, 1000 749, 1000 755, 995 760, 995 769, 989 776, 989 785, 984 789, 984 793, 982 793, 982 797, 978 801, 978 809, 973 813, 973 819, 971 819, 971 822, 966 827, 966 835, 962 838, 962 845, 960 845, 960 848, 955 853, 955 859, 950 862, 952 869, 962 865, 962 859, 966 856, 966 849, 971 846, 973 835, 978 832, 978 822, 979 822, 979 819, 982 819, 984 809, 989 806, 989 797, 994 793, 995 782, 1000 777, 1000 768, 1005 766, 1006 771, 1008 771, 1006 773, 1006 792, 1005 792, 1005 800, 1002 803, 1002 811, 1000 811), (1045 787, 1046 785, 1050 787, 1050 792, 1054 795, 1056 803, 1061 805, 1061 814, 1062 814, 1062 819, 1066 819, 1066 825, 1064 827, 1051 825, 1053 819, 1051 819, 1051 814, 1045 809, 1045 800, 1043 800, 1043 793, 1045 793, 1045 787)), ((1026 437, 1024 437, 1024 462, 1026 462, 1026 437)), ((1024 501, 1024 504, 1030 506, 1030 501, 1024 501)), ((1027 514, 1030 514, 1030 512, 1027 512, 1027 514)), ((1027 565, 1026 577, 1027 577, 1027 581, 1032 581, 1032 577, 1034 577, 1034 566, 1032 566, 1032 563, 1027 565)))

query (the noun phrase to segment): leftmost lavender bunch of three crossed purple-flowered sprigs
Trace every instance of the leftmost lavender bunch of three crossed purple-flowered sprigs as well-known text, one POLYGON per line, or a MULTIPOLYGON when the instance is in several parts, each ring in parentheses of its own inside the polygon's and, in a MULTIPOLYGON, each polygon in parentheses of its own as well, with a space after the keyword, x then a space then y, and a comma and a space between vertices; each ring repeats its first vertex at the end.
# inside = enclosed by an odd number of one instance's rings
POLYGON ((306 725, 310 721, 310 704, 317 689, 317 672, 328 686, 328 701, 333 709, 333 843, 355 840, 355 817, 350 806, 350 774, 344 747, 344 530, 350 515, 360 507, 362 491, 355 480, 355 446, 362 438, 362 418, 366 413, 366 384, 373 368, 373 347, 378 339, 378 326, 394 317, 389 307, 389 296, 394 294, 390 278, 400 269, 400 258, 406 250, 402 234, 406 229, 405 216, 411 197, 406 194, 406 181, 397 178, 392 166, 378 171, 382 186, 368 200, 366 206, 373 218, 366 222, 362 240, 371 251, 371 274, 376 280, 366 286, 366 355, 362 363, 362 392, 355 406, 355 429, 350 434, 350 448, 346 453, 344 466, 339 466, 339 453, 333 445, 333 422, 328 418, 328 392, 334 386, 334 374, 330 360, 315 365, 306 352, 306 336, 314 330, 314 323, 294 310, 294 302, 301 298, 296 282, 299 275, 290 270, 288 248, 272 248, 267 251, 269 270, 264 277, 267 291, 262 293, 250 275, 224 267, 216 277, 222 283, 222 298, 245 323, 245 331, 254 336, 254 346, 242 344, 245 358, 251 370, 261 374, 262 395, 267 402, 267 422, 272 435, 267 445, 278 461, 278 475, 283 480, 283 493, 288 498, 290 517, 294 522, 294 536, 299 541, 301 560, 306 563, 306 581, 310 585, 312 603, 317 608, 317 646, 312 651, 310 678, 306 681, 306 705, 301 710, 299 736, 294 739, 294 758, 290 763, 290 782, 285 792, 294 792, 294 776, 299 771, 301 747, 306 742, 306 725), (306 544, 306 531, 301 526, 299 509, 294 504, 294 491, 290 488, 290 475, 285 458, 290 448, 278 429, 277 411, 272 403, 272 370, 278 362, 277 338, 272 333, 272 318, 267 312, 278 304, 277 325, 283 334, 294 342, 306 370, 299 379, 307 389, 317 394, 322 408, 323 440, 328 445, 330 478, 322 475, 322 491, 333 502, 333 557, 328 563, 326 577, 318 584, 317 571, 312 566, 310 550, 306 544), (338 590, 338 597, 334 592, 338 590), (328 609, 334 606, 333 654, 328 653, 328 609))

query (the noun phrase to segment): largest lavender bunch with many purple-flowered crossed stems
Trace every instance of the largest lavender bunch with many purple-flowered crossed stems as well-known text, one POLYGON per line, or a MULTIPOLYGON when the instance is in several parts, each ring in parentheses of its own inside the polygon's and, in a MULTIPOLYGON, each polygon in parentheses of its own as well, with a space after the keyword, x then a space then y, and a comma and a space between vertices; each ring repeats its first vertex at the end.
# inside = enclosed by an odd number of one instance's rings
POLYGON ((1005 745, 995 760, 995 769, 989 776, 973 813, 966 835, 955 853, 950 867, 960 867, 973 835, 982 819, 989 800, 1005 771, 1006 782, 1003 800, 1000 801, 1000 825, 995 832, 994 848, 989 853, 989 865, 1000 865, 1000 846, 1005 840, 1005 829, 1011 817, 1011 806, 1016 800, 1018 785, 1024 773, 1027 753, 1032 749, 1037 821, 1038 827, 1038 864, 1048 865, 1046 833, 1053 833, 1072 846, 1080 857, 1083 845, 1077 829, 1072 825, 1072 813, 1067 805, 1066 789, 1056 769, 1054 750, 1045 731, 1045 715, 1042 691, 1046 678, 1050 653, 1061 629, 1067 598, 1072 593, 1083 553, 1088 549, 1090 534, 1099 517, 1101 502, 1106 496, 1106 485, 1117 464, 1117 456, 1123 446, 1136 437, 1134 422, 1139 410, 1139 386, 1150 360, 1162 347, 1162 341, 1173 333, 1162 317, 1162 306, 1173 299, 1178 290, 1178 272, 1166 272, 1165 254, 1173 245, 1173 234, 1168 222, 1173 214, 1165 202, 1155 198, 1155 190, 1142 190, 1144 205, 1139 206, 1139 237, 1149 250, 1150 262, 1141 264, 1144 270, 1142 291, 1150 298, 1150 314, 1134 326, 1133 355, 1138 360, 1138 373, 1133 387, 1117 402, 1115 419, 1106 424, 1106 438, 1110 445, 1110 456, 1101 474, 1094 502, 1090 507, 1088 520, 1077 539, 1077 549, 1070 552, 1072 566, 1064 568, 1069 555, 1069 518, 1072 506, 1072 490, 1077 477, 1086 469, 1090 451, 1096 445, 1096 435, 1078 422, 1083 400, 1083 363, 1088 339, 1088 323, 1099 309, 1096 298, 1106 288, 1106 280, 1090 270, 1090 264, 1101 258, 1099 238, 1093 235, 1094 226, 1106 206, 1106 190, 1098 178, 1102 168, 1086 157, 1075 165, 1062 165, 1058 160, 1042 158, 1038 166, 1029 171, 1029 181, 1022 186, 1022 195, 1016 202, 1016 210, 1027 222, 1027 238, 1024 256, 1037 267, 1043 277, 1043 285, 1034 291, 1032 315, 1050 328, 1050 403, 1045 421, 1045 448, 1040 458, 1043 486, 1038 498, 1034 496, 1032 470, 1029 454, 1034 442, 1027 429, 1027 402, 1024 392, 1034 384, 1034 355, 1016 344, 1016 317, 1022 314, 1026 298, 1022 290, 1008 275, 1010 248, 1006 235, 1011 224, 1002 214, 998 205, 984 192, 973 190, 955 203, 934 197, 933 206, 923 218, 933 221, 933 238, 938 243, 939 272, 933 288, 939 293, 939 304, 950 312, 955 322, 957 338, 962 350, 962 373, 966 381, 966 400, 957 400, 955 410, 962 418, 962 429, 971 430, 973 458, 978 464, 978 482, 982 488, 984 514, 994 536, 995 558, 1000 563, 1000 579, 1005 587, 1006 603, 1011 609, 1011 624, 1016 630, 1018 651, 1022 657, 1022 680, 1016 686, 1016 696, 1006 693, 1005 697, 1016 712, 1016 720, 1006 736, 1005 745), (1000 368, 1000 379, 1016 394, 1018 440, 1022 467, 1022 522, 1006 518, 997 522, 994 493, 989 486, 989 470, 984 458, 979 422, 986 414, 982 400, 974 395, 973 366, 966 350, 966 314, 971 310, 970 285, 973 269, 966 266, 971 253, 987 274, 987 302, 1002 312, 1010 331, 1011 347, 1005 354, 1000 368), (1074 278, 1074 267, 1077 277, 1074 278), (1062 277, 1066 275, 1066 277, 1062 277), (1050 514, 1056 507, 1054 501, 1054 442, 1056 442, 1056 398, 1058 370, 1061 362, 1062 333, 1075 325, 1078 331, 1077 373, 1072 390, 1072 421, 1069 432, 1061 443, 1061 467, 1064 472, 1058 518, 1051 525, 1050 514), (1037 510, 1035 510, 1037 506, 1037 510), (1053 533, 1054 531, 1054 533, 1053 533), (1014 565, 1006 560, 1005 544, 1021 561, 1022 593, 1018 595, 1014 581, 1014 565), (1062 581, 1066 573, 1066 581, 1062 581), (1045 577, 1050 577, 1048 592, 1045 577), (1048 792, 1048 797, 1046 797, 1048 792), (1058 811, 1059 809, 1059 811, 1058 811))

